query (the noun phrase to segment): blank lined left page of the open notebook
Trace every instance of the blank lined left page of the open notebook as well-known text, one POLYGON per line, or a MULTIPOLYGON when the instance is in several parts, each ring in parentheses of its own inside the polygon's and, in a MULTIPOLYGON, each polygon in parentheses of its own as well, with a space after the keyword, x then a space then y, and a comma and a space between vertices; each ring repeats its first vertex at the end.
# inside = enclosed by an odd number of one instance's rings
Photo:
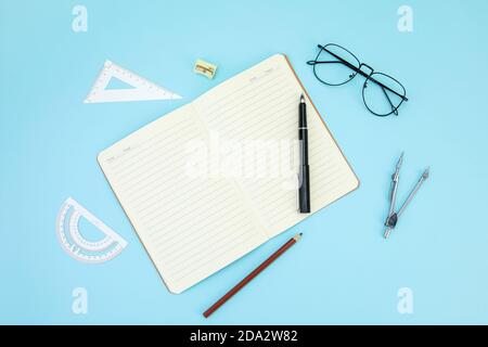
POLYGON ((266 241, 235 185, 188 171, 187 146, 206 141, 183 106, 99 155, 151 259, 180 293, 266 241))

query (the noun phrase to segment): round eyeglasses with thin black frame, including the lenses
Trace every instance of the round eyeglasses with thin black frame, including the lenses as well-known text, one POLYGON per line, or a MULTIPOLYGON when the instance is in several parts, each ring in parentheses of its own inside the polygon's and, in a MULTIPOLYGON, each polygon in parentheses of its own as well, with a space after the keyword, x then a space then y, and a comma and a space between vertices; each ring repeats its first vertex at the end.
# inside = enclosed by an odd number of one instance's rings
POLYGON ((362 86, 362 101, 374 115, 386 117, 398 116, 398 108, 408 101, 404 87, 391 76, 375 73, 355 54, 335 43, 318 44, 320 49, 316 60, 308 61, 313 66, 317 79, 328 86, 342 86, 352 80, 356 75, 365 78, 362 86))

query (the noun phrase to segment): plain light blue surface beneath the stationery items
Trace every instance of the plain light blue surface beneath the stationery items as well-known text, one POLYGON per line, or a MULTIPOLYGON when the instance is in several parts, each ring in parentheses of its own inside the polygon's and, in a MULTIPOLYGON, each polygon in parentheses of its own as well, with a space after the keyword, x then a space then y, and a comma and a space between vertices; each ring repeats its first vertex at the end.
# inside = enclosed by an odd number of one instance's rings
POLYGON ((0 323, 488 323, 487 1, 0 1, 0 323), (74 33, 72 10, 88 10, 74 33), (397 29, 401 4, 413 33, 397 29), (336 42, 406 86, 399 117, 370 115, 360 78, 326 87, 305 62, 336 42), (168 293, 97 154, 269 55, 286 53, 361 187, 181 295, 168 293), (202 57, 214 80, 192 72, 202 57), (183 97, 84 104, 108 59, 183 97), (432 176, 385 241, 390 174, 399 202, 432 176), (86 265, 55 236, 68 196, 125 237, 86 265), (305 236, 210 320, 202 312, 281 246, 305 236), (88 291, 88 313, 72 291, 88 291), (413 313, 397 310, 400 287, 413 313))

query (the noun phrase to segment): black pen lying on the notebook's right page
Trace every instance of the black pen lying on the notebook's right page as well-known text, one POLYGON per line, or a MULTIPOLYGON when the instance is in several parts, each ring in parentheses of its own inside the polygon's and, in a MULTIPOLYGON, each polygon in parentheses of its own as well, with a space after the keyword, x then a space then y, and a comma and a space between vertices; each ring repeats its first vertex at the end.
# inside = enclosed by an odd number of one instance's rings
POLYGON ((307 105, 304 94, 298 106, 298 142, 300 146, 298 203, 300 214, 310 213, 310 174, 308 167, 307 105))

